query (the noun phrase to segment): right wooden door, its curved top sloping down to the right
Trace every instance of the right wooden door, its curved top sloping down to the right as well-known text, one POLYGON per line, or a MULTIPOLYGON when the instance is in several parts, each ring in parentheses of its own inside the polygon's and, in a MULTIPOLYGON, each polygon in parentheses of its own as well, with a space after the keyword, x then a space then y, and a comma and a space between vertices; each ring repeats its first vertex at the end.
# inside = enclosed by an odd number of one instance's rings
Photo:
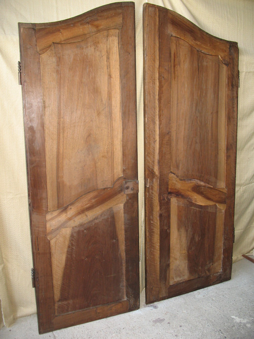
POLYGON ((237 43, 144 5, 146 302, 231 277, 237 43))

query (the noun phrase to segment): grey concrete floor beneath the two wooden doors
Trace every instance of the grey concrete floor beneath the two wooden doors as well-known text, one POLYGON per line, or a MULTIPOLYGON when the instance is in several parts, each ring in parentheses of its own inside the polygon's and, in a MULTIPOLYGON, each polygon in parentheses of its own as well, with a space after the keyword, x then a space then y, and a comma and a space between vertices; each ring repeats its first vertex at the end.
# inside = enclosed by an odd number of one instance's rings
MULTIPOLYGON (((252 257, 253 258, 253 257, 252 257)), ((233 264, 232 280, 141 309, 46 334, 38 334, 37 317, 17 319, 0 330, 4 339, 81 338, 254 338, 254 264, 233 264)))

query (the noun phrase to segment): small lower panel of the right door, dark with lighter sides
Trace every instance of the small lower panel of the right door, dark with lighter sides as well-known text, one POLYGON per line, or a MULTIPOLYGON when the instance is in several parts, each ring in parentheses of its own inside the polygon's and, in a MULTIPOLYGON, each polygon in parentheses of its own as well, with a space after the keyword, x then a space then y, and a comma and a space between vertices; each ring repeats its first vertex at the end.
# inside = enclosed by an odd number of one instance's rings
POLYGON ((224 210, 171 198, 170 222, 168 286, 221 272, 224 210))

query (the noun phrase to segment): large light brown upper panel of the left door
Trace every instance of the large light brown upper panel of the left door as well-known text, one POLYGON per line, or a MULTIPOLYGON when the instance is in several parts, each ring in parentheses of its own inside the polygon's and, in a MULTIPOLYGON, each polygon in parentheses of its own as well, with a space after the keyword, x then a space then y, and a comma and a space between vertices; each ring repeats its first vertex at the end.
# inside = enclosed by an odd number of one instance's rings
POLYGON ((49 211, 122 175, 118 35, 53 44, 41 55, 49 211))

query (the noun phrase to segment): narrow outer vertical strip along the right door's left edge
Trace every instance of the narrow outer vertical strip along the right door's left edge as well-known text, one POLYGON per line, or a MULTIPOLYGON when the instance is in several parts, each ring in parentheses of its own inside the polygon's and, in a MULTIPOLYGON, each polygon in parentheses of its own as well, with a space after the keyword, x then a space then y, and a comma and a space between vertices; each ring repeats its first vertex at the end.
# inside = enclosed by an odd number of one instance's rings
POLYGON ((146 295, 153 296, 154 301, 158 299, 160 293, 160 206, 158 199, 158 151, 159 151, 159 120, 158 120, 158 11, 151 8, 148 17, 143 17, 143 33, 147 34, 144 40, 144 62, 145 69, 149 70, 149 79, 146 79, 144 72, 144 98, 145 107, 154 114, 145 116, 145 177, 148 178, 145 187, 145 246, 146 246, 146 295), (148 25, 152 24, 154 30, 149 30, 148 25), (151 43, 152 42, 152 43, 151 43), (147 55, 152 55, 151 59, 147 55), (147 95, 148 94, 148 95, 147 95), (150 147, 147 147, 148 140, 153 140, 150 147), (150 180, 149 178, 152 177, 150 180), (147 189, 149 188, 149 189, 147 189), (148 214, 147 208, 151 206, 148 214))

